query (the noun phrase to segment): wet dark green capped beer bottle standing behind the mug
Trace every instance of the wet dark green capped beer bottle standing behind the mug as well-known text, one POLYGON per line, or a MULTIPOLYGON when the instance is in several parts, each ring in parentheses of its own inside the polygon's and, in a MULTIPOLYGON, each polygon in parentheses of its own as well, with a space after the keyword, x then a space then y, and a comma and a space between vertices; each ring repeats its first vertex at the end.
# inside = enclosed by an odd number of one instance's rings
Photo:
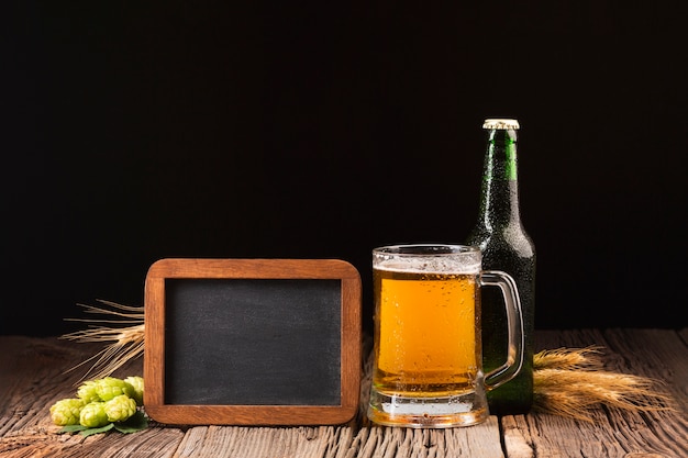
MULTIPOLYGON (((480 247, 482 268, 503 270, 517 282, 523 313, 523 367, 512 380, 488 393, 490 413, 521 414, 533 403, 533 331, 535 308, 535 246, 521 224, 517 167, 517 120, 486 120, 487 150, 480 211, 467 244, 480 247)), ((506 312, 496 288, 481 291, 482 365, 499 367, 508 347, 506 312)))

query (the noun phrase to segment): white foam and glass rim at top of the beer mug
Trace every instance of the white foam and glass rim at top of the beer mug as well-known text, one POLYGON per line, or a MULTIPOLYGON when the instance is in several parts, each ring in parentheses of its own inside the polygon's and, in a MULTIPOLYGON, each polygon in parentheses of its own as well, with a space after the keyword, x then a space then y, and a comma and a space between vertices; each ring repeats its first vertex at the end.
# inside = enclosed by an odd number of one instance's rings
POLYGON ((373 250, 373 268, 413 273, 478 273, 480 249, 464 245, 395 245, 373 250))

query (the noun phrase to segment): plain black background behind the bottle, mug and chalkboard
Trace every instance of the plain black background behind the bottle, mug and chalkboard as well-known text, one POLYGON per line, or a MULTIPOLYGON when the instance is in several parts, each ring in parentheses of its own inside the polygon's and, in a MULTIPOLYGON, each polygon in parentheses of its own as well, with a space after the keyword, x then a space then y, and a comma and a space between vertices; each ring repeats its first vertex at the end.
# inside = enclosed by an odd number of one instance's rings
POLYGON ((665 2, 3 3, 0 334, 143 303, 165 257, 462 242, 521 122, 540 328, 681 327, 683 11, 665 2), (9 5, 9 7, 8 7, 9 5))

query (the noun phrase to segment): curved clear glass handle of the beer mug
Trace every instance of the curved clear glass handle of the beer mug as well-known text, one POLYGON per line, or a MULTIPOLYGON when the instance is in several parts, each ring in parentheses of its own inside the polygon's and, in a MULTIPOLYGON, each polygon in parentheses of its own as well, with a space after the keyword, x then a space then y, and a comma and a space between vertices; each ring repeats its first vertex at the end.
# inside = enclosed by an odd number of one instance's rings
POLYGON ((523 313, 521 300, 515 280, 507 272, 500 270, 484 270, 480 272, 480 286, 493 286, 501 289, 507 308, 507 327, 509 331, 509 345, 507 347, 507 361, 500 367, 485 375, 485 388, 493 390, 504 382, 513 379, 523 366, 523 313))

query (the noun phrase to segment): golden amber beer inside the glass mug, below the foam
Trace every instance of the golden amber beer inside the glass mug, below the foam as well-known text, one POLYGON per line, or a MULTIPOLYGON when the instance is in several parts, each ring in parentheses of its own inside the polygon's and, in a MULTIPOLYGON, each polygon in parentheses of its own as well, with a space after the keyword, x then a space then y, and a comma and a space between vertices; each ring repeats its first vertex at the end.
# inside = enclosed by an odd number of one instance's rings
POLYGON ((378 389, 407 394, 473 389, 480 354, 476 277, 374 270, 380 297, 378 389))

